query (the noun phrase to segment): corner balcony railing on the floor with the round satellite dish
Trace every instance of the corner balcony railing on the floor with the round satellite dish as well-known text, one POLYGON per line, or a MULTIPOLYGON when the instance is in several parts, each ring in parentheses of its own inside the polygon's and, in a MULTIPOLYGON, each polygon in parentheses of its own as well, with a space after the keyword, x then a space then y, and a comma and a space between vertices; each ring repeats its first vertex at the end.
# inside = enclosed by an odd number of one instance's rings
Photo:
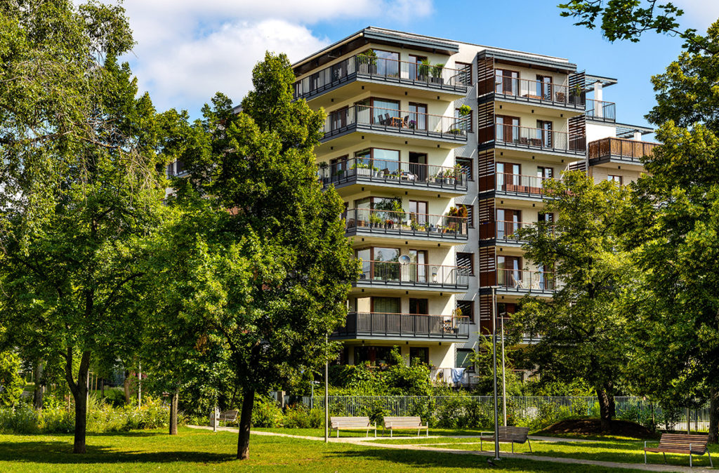
POLYGON ((403 264, 395 261, 362 261, 359 282, 380 285, 467 287, 470 267, 403 264))

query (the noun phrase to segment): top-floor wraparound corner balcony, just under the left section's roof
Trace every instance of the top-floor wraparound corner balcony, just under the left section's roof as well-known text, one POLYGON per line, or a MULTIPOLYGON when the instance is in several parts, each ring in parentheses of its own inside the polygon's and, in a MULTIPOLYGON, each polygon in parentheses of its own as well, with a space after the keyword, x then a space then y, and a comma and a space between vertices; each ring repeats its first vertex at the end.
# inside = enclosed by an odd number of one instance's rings
POLYGON ((297 81, 294 84, 294 97, 310 100, 345 83, 357 80, 465 95, 467 86, 470 85, 470 78, 469 70, 354 55, 297 81))

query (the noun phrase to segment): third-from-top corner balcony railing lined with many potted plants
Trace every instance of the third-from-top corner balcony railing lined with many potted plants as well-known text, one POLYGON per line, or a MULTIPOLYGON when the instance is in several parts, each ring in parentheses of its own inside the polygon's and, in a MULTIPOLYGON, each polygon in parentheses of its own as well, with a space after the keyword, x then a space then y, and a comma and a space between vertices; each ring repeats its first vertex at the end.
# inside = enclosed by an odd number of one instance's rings
POLYGON ((376 160, 371 157, 352 157, 320 167, 318 175, 324 185, 340 185, 362 180, 429 188, 467 188, 467 173, 459 167, 426 165, 418 162, 396 160, 376 160))

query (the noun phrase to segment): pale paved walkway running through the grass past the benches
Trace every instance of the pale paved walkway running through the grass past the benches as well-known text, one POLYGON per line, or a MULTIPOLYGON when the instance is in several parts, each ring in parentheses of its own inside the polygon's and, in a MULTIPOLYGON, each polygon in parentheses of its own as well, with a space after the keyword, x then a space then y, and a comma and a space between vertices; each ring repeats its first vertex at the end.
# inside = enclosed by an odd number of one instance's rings
MULTIPOLYGON (((188 426, 191 428, 201 428, 204 430, 212 430, 208 426, 188 426)), ((237 428, 232 427, 218 427, 218 431, 228 431, 237 433, 237 428)), ((264 431, 252 431, 254 435, 262 436, 278 436, 278 437, 292 437, 292 438, 303 438, 305 440, 324 441, 324 437, 313 437, 303 435, 292 435, 290 433, 278 433, 278 432, 264 432, 264 431)), ((472 438, 476 436, 430 436, 429 438, 472 438)), ((426 437, 423 437, 426 438, 426 437)), ((557 438, 557 437, 544 437, 544 436, 530 436, 532 440, 539 441, 577 441, 577 442, 590 442, 584 438, 557 438)), ((380 444, 373 442, 374 437, 370 437, 369 441, 367 437, 330 437, 329 440, 334 443, 349 443, 362 446, 373 446, 380 447, 383 449, 400 449, 400 450, 424 450, 424 451, 436 451, 437 453, 455 454, 455 455, 480 455, 480 456, 494 456, 494 451, 478 451, 478 450, 456 450, 448 448, 438 448, 430 445, 423 444, 380 444)), ((444 444, 446 445, 446 444, 444 444)), ((549 461, 550 463, 563 463, 563 464, 582 464, 582 465, 594 465, 596 467, 605 468, 625 468, 625 469, 636 469, 644 472, 682 472, 682 473, 709 473, 716 472, 716 469, 710 469, 705 467, 679 467, 677 465, 664 465, 664 464, 644 464, 644 463, 619 463, 617 461, 600 461, 600 460, 579 460, 573 458, 560 458, 557 456, 539 456, 529 455, 522 453, 508 453, 503 451, 501 456, 505 458, 520 458, 532 461, 549 461)), ((703 458, 700 457, 700 458, 703 458)), ((689 459, 687 458, 687 463, 689 459)))

